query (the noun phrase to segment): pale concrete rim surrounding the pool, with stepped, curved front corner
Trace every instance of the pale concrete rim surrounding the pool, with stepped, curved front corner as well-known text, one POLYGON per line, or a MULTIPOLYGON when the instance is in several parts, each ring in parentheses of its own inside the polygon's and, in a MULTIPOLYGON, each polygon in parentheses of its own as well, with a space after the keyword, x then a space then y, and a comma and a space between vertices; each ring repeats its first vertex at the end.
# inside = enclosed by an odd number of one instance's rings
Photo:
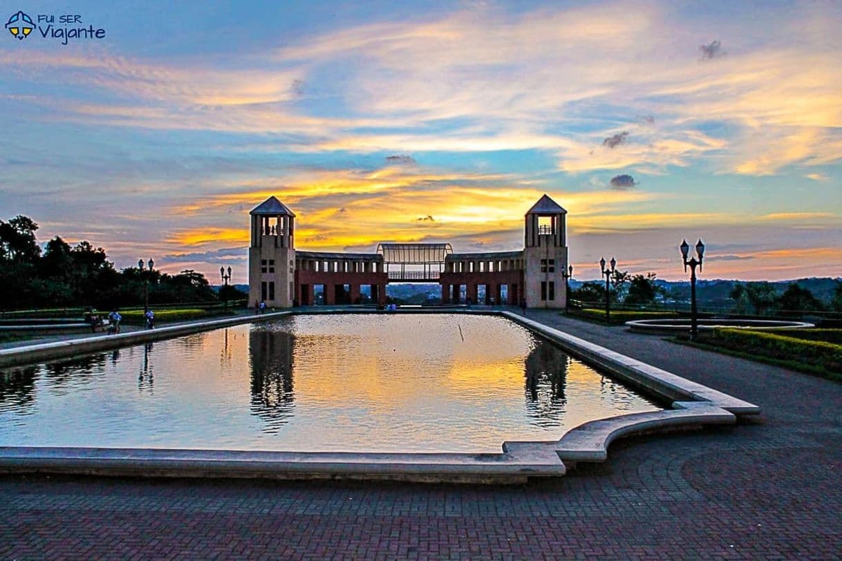
MULTIPOLYGON (((232 325, 290 315, 383 313, 376 310, 285 310, 263 315, 204 320, 184 325, 94 336, 0 351, 0 368, 77 357, 116 347, 159 341, 232 325)), ((661 368, 600 347, 508 310, 398 310, 392 314, 496 315, 555 343, 618 381, 671 403, 670 409, 588 421, 557 441, 503 442, 502 453, 290 453, 157 448, 0 447, 0 473, 112 476, 397 479, 470 483, 524 483, 530 477, 559 477, 578 462, 603 462, 610 443, 642 432, 732 425, 757 415, 757 405, 697 384, 661 368)))

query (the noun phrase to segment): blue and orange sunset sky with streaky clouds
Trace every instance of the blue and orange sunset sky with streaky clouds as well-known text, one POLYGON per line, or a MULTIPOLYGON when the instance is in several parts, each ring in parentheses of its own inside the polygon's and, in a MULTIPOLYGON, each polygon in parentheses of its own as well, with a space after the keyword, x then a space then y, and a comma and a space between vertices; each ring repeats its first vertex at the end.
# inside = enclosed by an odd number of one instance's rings
MULTIPOLYGON (((0 218, 246 281, 299 249, 520 249, 542 193, 575 278, 842 275, 842 2, 87 2, 104 39, 0 40, 0 218)), ((56 17, 57 21, 57 17, 56 17)))

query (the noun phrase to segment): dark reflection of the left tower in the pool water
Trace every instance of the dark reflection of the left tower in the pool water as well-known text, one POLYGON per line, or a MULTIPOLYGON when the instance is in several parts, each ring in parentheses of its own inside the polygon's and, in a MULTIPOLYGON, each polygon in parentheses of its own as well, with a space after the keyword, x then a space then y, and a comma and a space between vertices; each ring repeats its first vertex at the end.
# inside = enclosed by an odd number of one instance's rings
POLYGON ((254 329, 248 334, 253 415, 265 421, 264 431, 277 432, 295 411, 292 357, 296 337, 288 331, 254 329))

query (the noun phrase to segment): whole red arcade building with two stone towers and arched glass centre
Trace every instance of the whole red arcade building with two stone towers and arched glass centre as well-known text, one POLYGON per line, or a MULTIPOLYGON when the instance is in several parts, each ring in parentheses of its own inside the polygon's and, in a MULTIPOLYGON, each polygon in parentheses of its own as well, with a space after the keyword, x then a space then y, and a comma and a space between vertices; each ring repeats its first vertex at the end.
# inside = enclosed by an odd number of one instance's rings
POLYGON ((248 303, 269 308, 386 303, 388 283, 439 283, 442 304, 564 308, 567 210, 546 194, 518 251, 454 253, 449 243, 381 243, 375 253, 296 250, 296 214, 269 197, 251 215, 248 303))

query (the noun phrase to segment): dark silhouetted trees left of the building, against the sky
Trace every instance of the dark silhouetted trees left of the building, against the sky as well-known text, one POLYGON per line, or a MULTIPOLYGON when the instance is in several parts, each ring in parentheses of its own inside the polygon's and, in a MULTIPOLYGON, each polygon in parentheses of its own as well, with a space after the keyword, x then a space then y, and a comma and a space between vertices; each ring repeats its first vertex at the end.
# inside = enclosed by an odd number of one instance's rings
MULTIPOLYGON (((168 275, 137 267, 118 271, 101 247, 87 241, 71 246, 56 236, 41 248, 38 225, 26 216, 0 220, 0 309, 211 302, 219 296, 201 273, 168 275)), ((238 294, 238 293, 237 293, 238 294)), ((236 298, 229 295, 229 298, 236 298)))

